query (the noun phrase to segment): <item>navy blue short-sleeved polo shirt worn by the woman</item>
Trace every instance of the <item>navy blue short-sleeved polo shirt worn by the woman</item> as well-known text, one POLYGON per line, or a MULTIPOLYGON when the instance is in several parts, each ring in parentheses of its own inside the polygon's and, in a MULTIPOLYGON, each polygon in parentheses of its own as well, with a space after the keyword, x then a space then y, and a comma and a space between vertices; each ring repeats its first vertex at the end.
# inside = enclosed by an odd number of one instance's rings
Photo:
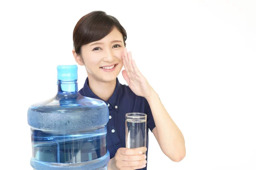
MULTIPOLYGON (((107 150, 112 159, 116 151, 120 147, 125 147, 125 114, 131 112, 139 112, 147 114, 147 140, 146 147, 148 149, 148 130, 153 130, 155 127, 154 119, 147 100, 144 97, 137 96, 127 85, 119 83, 116 78, 116 87, 112 96, 105 101, 91 91, 89 87, 88 77, 85 80, 84 87, 79 93, 82 96, 87 96, 94 99, 100 99, 108 105, 109 121, 107 124, 107 150)), ((146 151, 148 156, 148 150, 146 151)), ((146 170, 146 167, 142 170, 146 170)))

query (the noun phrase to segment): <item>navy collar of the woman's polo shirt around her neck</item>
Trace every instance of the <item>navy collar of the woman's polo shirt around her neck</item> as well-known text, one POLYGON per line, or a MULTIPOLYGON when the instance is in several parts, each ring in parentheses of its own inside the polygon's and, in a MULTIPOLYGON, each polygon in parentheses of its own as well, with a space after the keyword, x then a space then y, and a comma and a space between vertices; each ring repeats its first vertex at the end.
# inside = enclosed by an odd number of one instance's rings
POLYGON ((94 99, 103 100, 104 102, 106 102, 107 105, 110 104, 114 110, 118 111, 118 109, 119 109, 118 107, 119 107, 119 89, 120 89, 120 86, 121 85, 118 81, 118 78, 116 77, 116 87, 115 87, 115 90, 114 90, 113 94, 108 99, 108 101, 105 101, 105 100, 101 99, 99 96, 97 96, 96 94, 93 93, 93 91, 89 87, 88 77, 85 80, 84 87, 83 87, 82 91, 83 91, 84 96, 94 98, 94 99))

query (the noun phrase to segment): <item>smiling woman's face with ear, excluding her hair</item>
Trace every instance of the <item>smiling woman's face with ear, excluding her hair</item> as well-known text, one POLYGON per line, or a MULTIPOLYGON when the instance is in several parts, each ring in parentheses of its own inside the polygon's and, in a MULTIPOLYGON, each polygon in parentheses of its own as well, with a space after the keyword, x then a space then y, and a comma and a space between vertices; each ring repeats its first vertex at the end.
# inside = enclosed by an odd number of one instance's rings
POLYGON ((116 79, 122 69, 124 48, 122 34, 114 28, 101 40, 83 45, 80 56, 82 61, 75 59, 79 65, 85 66, 88 77, 110 82, 116 79))

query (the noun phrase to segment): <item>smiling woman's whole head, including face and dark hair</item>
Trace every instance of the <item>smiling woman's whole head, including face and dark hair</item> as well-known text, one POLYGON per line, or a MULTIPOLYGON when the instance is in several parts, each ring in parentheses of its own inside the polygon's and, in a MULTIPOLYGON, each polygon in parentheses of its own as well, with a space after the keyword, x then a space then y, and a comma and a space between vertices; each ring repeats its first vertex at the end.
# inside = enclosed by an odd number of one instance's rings
POLYGON ((73 31, 73 54, 76 62, 85 66, 90 81, 116 80, 126 37, 119 21, 104 12, 93 11, 78 21, 73 31))

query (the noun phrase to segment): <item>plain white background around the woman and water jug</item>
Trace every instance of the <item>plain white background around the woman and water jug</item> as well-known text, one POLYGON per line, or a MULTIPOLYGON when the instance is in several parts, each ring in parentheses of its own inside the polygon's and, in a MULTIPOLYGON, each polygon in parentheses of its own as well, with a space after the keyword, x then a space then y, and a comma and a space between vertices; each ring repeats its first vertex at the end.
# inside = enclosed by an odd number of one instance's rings
MULTIPOLYGON (((255 0, 1 1, 1 167, 32 169, 27 109, 55 95, 57 65, 76 64, 73 28, 93 10, 124 26, 128 51, 185 137, 177 163, 150 133, 148 170, 256 169, 255 0)), ((86 77, 79 66, 79 89, 86 77)))

